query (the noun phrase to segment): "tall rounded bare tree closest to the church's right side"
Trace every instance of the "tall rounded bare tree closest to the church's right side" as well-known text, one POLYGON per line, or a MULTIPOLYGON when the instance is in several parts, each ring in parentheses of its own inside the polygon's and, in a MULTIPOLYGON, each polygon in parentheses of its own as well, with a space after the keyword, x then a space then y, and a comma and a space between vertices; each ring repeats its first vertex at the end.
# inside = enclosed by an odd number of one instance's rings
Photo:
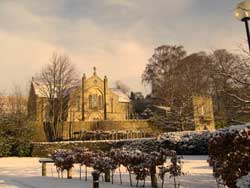
MULTIPOLYGON (((183 46, 160 46, 155 49, 154 54, 149 59, 144 73, 142 82, 150 84, 152 95, 157 98, 163 98, 163 103, 172 103, 173 93, 166 92, 173 87, 172 71, 178 66, 180 61, 186 56, 183 46)), ((162 103, 161 102, 161 103, 162 103)), ((169 105, 169 104, 165 104, 169 105)))

